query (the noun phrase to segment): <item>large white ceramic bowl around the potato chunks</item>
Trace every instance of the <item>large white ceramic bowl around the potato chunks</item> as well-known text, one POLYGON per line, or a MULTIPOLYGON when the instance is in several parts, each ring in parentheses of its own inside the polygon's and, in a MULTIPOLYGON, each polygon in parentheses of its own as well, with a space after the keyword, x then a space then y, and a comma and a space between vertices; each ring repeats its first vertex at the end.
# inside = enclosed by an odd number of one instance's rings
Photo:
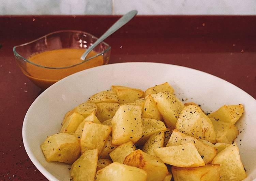
POLYGON ((60 130, 65 113, 91 95, 109 89, 111 85, 146 90, 166 81, 174 87, 179 99, 201 104, 201 108, 208 112, 224 104, 244 105, 245 113, 236 123, 239 131, 242 131, 236 141, 247 170, 245 180, 254 180, 256 100, 235 85, 208 73, 160 63, 119 63, 94 67, 50 86, 32 103, 24 118, 22 136, 29 158, 47 179, 69 181, 69 165, 46 162, 40 148, 46 136, 60 130))

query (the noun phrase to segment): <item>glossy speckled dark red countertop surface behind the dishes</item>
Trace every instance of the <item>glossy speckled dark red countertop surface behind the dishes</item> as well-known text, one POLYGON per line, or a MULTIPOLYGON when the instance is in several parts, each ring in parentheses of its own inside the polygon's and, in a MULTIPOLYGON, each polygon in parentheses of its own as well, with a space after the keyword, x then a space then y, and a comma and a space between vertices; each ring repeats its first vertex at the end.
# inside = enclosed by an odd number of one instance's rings
MULTIPOLYGON (((46 180, 28 158, 21 135, 24 116, 42 90, 21 73, 13 46, 65 29, 99 37, 118 18, 0 16, 0 180, 46 180)), ((256 98, 256 16, 137 16, 105 42, 112 47, 110 63, 191 67, 256 98)))

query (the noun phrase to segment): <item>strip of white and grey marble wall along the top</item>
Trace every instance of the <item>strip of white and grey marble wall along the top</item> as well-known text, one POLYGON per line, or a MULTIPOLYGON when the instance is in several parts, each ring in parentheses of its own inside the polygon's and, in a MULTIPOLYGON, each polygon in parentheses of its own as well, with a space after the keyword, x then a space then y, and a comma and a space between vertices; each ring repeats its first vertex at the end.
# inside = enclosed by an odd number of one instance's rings
POLYGON ((256 15, 256 0, 0 0, 0 15, 256 15))

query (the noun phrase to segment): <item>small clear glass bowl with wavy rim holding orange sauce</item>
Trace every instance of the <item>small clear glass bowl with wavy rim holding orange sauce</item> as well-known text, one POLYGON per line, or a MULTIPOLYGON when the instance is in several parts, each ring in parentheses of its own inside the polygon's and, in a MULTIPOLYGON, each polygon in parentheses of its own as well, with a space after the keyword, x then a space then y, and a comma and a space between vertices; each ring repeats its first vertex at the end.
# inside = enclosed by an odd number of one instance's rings
POLYGON ((70 60, 63 62, 59 57, 56 57, 56 59, 51 57, 49 60, 43 59, 39 62, 37 56, 42 55, 41 53, 59 49, 62 49, 61 51, 64 53, 67 53, 70 49, 76 49, 74 51, 79 51, 77 57, 80 59, 82 52, 97 39, 95 36, 83 31, 56 31, 31 42, 15 46, 13 47, 13 52, 21 71, 35 85, 46 89, 75 72, 107 64, 111 47, 102 42, 93 49, 93 52, 90 52, 86 57, 86 61, 76 61, 75 63, 70 60))

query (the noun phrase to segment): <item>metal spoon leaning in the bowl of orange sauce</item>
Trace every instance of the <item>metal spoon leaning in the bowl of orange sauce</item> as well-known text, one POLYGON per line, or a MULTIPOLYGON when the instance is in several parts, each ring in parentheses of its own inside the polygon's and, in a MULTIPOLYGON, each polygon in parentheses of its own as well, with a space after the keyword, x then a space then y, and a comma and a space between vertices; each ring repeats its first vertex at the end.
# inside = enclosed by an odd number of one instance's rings
POLYGON ((92 51, 97 45, 99 45, 104 39, 106 39, 109 35, 117 31, 119 28, 124 26, 127 22, 129 22, 138 12, 136 10, 130 11, 129 13, 123 15, 115 24, 113 24, 92 46, 90 46, 84 54, 81 56, 81 60, 84 61, 86 56, 92 51))

